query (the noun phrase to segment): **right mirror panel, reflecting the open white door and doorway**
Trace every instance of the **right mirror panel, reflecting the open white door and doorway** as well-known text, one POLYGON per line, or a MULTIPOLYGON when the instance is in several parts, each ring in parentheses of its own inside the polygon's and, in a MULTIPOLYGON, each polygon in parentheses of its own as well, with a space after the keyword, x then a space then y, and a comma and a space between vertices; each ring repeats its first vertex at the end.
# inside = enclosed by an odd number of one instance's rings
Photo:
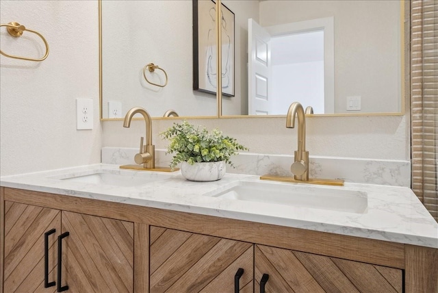
POLYGON ((400 1, 222 0, 235 14, 235 97, 222 116, 401 114, 400 1))

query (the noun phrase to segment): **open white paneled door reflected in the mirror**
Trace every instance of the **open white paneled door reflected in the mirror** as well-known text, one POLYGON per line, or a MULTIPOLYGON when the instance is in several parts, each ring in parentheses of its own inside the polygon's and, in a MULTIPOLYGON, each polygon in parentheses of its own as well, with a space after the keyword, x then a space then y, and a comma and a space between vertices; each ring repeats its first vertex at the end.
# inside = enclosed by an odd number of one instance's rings
POLYGON ((270 34, 248 19, 248 114, 270 114, 270 34))

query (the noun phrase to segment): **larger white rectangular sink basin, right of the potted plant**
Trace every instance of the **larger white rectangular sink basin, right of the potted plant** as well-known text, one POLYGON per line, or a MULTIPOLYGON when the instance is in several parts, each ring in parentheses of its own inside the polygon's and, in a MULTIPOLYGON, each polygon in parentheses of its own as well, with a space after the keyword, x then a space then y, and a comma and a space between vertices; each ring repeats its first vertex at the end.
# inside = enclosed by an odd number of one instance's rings
POLYGON ((222 192, 206 196, 237 201, 274 203, 293 207, 328 209, 363 214, 368 207, 368 195, 357 190, 298 186, 296 184, 240 181, 222 192))

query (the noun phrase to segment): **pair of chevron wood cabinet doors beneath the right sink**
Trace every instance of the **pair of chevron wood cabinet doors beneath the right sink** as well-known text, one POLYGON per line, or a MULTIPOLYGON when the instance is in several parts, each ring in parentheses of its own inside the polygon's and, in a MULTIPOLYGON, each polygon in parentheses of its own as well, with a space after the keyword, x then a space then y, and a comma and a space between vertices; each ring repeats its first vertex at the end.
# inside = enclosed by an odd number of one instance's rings
POLYGON ((152 293, 234 292, 239 268, 240 292, 402 292, 396 268, 162 227, 150 231, 152 293))

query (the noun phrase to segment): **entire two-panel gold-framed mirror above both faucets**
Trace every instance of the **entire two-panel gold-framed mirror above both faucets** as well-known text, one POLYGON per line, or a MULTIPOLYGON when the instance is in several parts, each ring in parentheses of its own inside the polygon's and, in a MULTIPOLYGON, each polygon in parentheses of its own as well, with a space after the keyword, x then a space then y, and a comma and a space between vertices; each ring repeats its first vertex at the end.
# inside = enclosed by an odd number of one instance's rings
MULTIPOLYGON (((284 115, 292 101, 313 106, 315 114, 402 113, 405 32, 400 1, 222 0, 222 4, 235 16, 234 96, 221 97, 222 116, 284 115), (279 79, 268 76, 272 82, 248 81, 254 54, 248 31, 254 27, 266 30, 272 40, 270 60, 280 69, 272 75, 279 79), (281 36, 289 38, 281 42, 281 36), (302 39, 310 41, 304 45, 302 39), (292 42, 298 46, 285 49, 292 42), (280 57, 275 51, 281 52, 280 57), (292 68, 298 71, 289 75, 292 68), (294 94, 293 85, 300 86, 294 94), (275 102, 275 111, 250 112, 249 101, 255 99, 248 98, 248 88, 270 101, 285 97, 275 102)), ((146 108, 153 117, 168 110, 184 117, 217 117, 216 96, 193 90, 192 8, 192 0, 99 0, 101 119, 123 118, 134 106, 146 108), (166 81, 160 69, 144 71, 150 63, 166 71, 168 84, 163 88, 144 78, 156 84, 166 81)), ((255 44, 263 53, 261 42, 255 44)), ((263 55, 258 57, 263 60, 263 55)))

